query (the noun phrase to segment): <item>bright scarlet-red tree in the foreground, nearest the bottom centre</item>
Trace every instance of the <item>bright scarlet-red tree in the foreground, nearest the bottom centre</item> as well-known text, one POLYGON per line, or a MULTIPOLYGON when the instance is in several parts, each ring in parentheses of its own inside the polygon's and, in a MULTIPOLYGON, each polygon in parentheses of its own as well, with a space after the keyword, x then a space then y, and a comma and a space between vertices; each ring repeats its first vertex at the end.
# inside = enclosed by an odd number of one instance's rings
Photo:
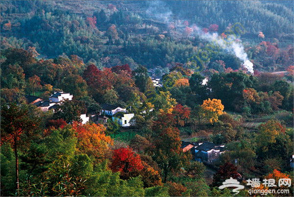
POLYGON ((112 159, 110 169, 113 172, 121 172, 122 179, 128 179, 143 169, 140 156, 129 147, 114 150, 112 159))

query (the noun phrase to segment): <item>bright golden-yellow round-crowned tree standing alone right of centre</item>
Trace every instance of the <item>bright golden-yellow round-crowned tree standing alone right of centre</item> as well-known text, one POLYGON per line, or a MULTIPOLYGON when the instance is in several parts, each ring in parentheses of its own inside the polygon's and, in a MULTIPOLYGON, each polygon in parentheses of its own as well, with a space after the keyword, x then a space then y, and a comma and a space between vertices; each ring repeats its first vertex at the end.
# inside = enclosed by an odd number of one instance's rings
POLYGON ((207 119, 210 123, 215 123, 218 121, 218 118, 223 113, 224 106, 221 104, 220 99, 213 98, 210 100, 203 100, 203 104, 201 105, 203 110, 203 117, 207 119))

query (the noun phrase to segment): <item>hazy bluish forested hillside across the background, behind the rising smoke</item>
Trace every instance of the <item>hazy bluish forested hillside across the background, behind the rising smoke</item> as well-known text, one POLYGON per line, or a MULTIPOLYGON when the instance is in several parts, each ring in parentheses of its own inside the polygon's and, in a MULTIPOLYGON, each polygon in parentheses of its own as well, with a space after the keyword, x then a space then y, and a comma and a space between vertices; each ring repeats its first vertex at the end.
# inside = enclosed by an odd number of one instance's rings
MULTIPOLYGON (((99 68, 126 63, 132 69, 171 68, 185 66, 208 43, 206 32, 221 35, 240 23, 246 31, 240 40, 257 70, 279 71, 293 58, 291 6, 289 1, 3 1, 1 49, 35 47, 47 58, 77 55, 99 68), (260 49, 263 41, 268 44, 260 49)), ((221 51, 207 68, 219 59, 231 68, 241 63, 221 51)))

